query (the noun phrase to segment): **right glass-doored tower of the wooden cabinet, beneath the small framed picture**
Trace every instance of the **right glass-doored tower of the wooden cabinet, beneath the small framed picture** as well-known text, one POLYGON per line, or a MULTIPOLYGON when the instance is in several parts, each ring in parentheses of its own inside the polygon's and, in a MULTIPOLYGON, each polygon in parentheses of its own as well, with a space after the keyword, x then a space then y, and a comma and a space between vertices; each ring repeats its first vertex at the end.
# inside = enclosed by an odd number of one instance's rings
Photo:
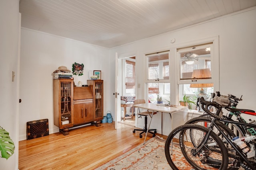
POLYGON ((100 126, 100 121, 103 119, 103 80, 87 80, 87 85, 92 90, 94 123, 100 126))

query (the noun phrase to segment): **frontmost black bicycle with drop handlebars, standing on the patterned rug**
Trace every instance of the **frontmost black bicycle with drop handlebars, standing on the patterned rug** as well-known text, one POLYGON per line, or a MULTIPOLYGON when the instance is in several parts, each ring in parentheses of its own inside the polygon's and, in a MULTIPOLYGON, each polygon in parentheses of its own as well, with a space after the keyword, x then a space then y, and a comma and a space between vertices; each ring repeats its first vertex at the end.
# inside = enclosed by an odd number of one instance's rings
MULTIPOLYGON (((243 137, 242 142, 251 141, 251 144, 249 145, 246 142, 249 146, 245 145, 246 149, 240 149, 240 147, 238 147, 238 145, 236 145, 232 140, 235 138, 234 133, 232 133, 232 131, 230 133, 230 129, 228 130, 224 127, 223 123, 233 123, 236 125, 246 126, 248 128, 256 128, 256 125, 227 120, 220 117, 218 114, 221 112, 223 108, 222 106, 216 102, 204 101, 204 98, 201 98, 200 100, 202 109, 213 117, 210 126, 206 128, 201 125, 185 124, 174 129, 168 135, 165 145, 166 159, 170 166, 175 170, 191 168, 199 170, 226 170, 228 167, 239 168, 240 166, 246 170, 256 169, 256 136, 248 135, 247 137, 243 137), (209 111, 209 106, 216 107, 216 114, 209 111), (216 133, 213 132, 214 128, 218 129, 218 133, 221 133, 223 137, 222 139, 219 135, 216 135, 216 133), (254 143, 254 145, 252 145, 252 143, 254 143), (230 148, 232 148, 234 152, 228 151, 230 148), (246 152, 244 152, 245 150, 246 152), (232 160, 232 162, 230 162, 230 160, 232 160)), ((226 107, 225 109, 234 113, 254 112, 252 110, 234 109, 229 107, 226 107)), ((238 140, 240 140, 240 138, 238 140)), ((242 144, 242 142, 240 144, 242 144)))

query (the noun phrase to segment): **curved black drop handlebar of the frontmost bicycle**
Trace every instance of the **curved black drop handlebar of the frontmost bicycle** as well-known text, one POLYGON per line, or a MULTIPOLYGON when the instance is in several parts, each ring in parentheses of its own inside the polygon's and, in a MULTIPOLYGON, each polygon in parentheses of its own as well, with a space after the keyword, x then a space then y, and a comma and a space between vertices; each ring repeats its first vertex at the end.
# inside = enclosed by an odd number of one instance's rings
POLYGON ((200 98, 200 103, 202 104, 202 109, 208 113, 210 116, 220 120, 221 117, 219 116, 220 114, 220 111, 221 111, 221 106, 219 104, 217 104, 216 102, 209 102, 209 101, 206 101, 204 100, 204 97, 201 97, 200 98), (216 111, 216 114, 210 112, 210 110, 208 109, 209 106, 214 106, 214 107, 217 107, 218 110, 216 111))

